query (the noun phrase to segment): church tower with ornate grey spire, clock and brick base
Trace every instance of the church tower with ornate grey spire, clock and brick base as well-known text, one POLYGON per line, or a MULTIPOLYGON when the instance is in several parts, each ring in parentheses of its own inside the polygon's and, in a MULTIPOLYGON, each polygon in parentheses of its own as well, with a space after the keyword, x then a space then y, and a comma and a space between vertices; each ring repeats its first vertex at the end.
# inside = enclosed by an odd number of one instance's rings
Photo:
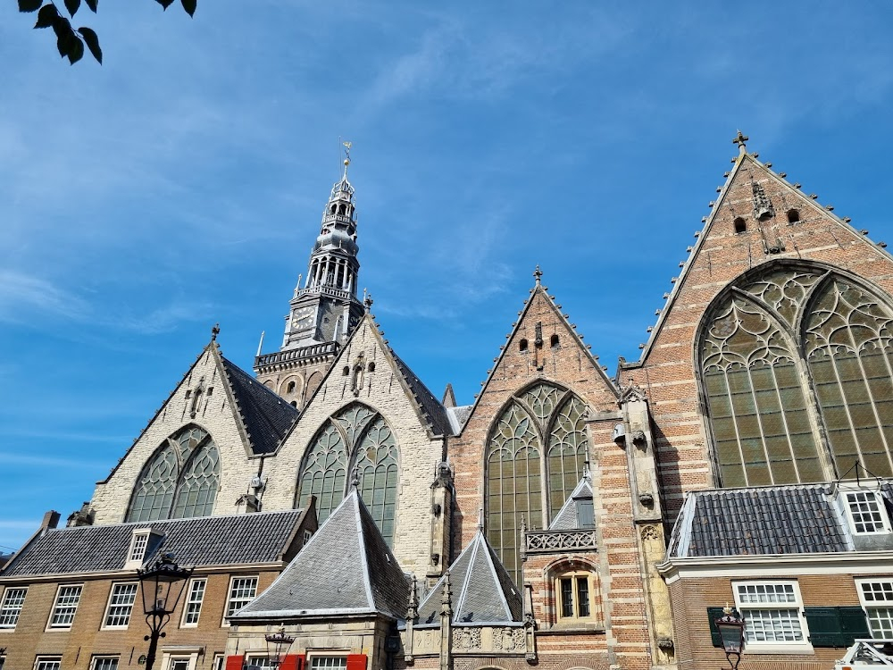
POLYGON ((282 347, 255 358, 258 381, 302 409, 319 387, 341 345, 363 315, 356 297, 360 262, 356 255, 354 187, 347 180, 350 143, 345 142, 344 173, 332 187, 322 212, 320 235, 306 275, 298 277, 285 317, 282 347))

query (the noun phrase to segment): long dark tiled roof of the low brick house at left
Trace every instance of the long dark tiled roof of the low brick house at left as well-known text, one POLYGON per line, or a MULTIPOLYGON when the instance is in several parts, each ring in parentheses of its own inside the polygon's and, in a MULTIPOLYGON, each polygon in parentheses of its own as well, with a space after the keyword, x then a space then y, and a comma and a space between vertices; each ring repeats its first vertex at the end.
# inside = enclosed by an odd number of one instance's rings
POLYGON ((250 515, 200 516, 142 523, 55 528, 30 540, 0 571, 2 577, 106 573, 122 570, 135 529, 151 528, 161 541, 150 542, 144 565, 161 552, 179 565, 246 565, 283 559, 303 510, 250 515))

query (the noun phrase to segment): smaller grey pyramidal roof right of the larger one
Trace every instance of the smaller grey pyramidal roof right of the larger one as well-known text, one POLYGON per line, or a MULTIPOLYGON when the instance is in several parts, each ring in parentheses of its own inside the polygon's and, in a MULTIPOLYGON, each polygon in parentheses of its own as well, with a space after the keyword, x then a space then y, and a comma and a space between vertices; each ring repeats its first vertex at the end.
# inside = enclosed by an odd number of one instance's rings
MULTIPOLYGON (((453 589, 453 624, 521 624, 521 592, 490 547, 483 531, 463 549, 449 568, 453 589)), ((446 576, 419 605, 416 627, 440 625, 440 599, 446 576)))

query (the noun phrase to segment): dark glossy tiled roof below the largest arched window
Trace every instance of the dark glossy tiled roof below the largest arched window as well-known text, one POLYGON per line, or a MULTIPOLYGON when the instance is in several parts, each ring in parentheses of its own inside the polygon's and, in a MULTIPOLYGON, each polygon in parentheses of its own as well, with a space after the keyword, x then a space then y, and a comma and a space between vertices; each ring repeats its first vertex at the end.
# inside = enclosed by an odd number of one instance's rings
POLYGON ((825 484, 693 491, 668 558, 848 551, 848 524, 825 484))

